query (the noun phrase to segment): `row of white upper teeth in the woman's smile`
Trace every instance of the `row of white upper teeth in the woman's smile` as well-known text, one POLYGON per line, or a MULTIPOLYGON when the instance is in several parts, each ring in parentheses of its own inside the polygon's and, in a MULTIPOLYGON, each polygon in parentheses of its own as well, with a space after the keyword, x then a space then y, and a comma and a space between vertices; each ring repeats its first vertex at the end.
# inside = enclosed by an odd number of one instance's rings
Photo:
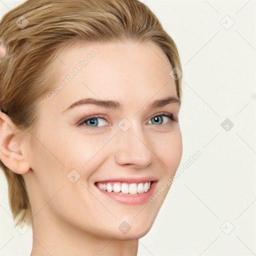
POLYGON ((112 183, 97 183, 98 188, 107 192, 123 193, 123 194, 137 194, 147 192, 150 188, 151 181, 144 183, 125 183, 125 182, 112 182, 112 183))

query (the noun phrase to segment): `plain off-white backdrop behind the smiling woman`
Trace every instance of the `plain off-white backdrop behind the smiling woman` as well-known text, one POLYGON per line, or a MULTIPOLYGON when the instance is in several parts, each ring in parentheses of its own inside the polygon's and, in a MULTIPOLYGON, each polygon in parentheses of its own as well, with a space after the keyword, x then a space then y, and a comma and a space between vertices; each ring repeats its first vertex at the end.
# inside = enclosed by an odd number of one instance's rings
MULTIPOLYGON (((0 16, 22 2, 0 0, 0 16)), ((255 0, 144 2, 180 54, 184 171, 138 256, 256 255, 255 0)), ((31 234, 13 228, 0 172, 0 255, 29 255, 31 234)))

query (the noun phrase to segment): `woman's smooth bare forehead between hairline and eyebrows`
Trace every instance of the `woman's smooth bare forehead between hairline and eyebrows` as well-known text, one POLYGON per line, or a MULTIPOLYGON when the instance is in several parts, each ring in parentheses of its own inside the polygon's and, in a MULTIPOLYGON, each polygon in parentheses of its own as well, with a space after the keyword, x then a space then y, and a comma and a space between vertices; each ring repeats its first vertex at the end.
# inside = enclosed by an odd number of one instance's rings
POLYGON ((55 88, 61 89, 52 99, 57 105, 57 101, 70 105, 82 97, 135 103, 154 95, 177 95, 169 75, 172 67, 154 43, 76 44, 65 48, 58 59, 55 88))

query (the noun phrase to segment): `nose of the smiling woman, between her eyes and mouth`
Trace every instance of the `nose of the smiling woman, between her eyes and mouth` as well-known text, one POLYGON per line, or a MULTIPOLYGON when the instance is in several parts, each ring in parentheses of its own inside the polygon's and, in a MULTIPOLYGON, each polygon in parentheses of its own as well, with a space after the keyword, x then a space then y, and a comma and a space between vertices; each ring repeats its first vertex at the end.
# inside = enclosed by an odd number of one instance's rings
POLYGON ((116 139, 115 160, 118 164, 145 168, 154 161, 156 156, 153 148, 138 125, 133 124, 126 131, 118 130, 116 139))

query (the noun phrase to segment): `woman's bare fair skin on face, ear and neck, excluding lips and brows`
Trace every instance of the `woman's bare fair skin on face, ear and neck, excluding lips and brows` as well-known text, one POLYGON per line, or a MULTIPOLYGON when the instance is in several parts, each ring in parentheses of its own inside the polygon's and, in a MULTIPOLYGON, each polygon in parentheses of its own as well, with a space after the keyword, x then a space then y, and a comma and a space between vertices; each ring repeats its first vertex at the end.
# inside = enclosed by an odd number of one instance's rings
POLYGON ((158 46, 147 44, 107 42, 77 46, 59 55, 65 65, 56 60, 56 86, 98 49, 59 92, 38 104, 43 103, 31 143, 23 133, 11 136, 17 129, 0 113, 1 141, 10 137, 0 147, 1 160, 23 175, 31 203, 31 256, 137 254, 138 238, 150 230, 170 187, 153 202, 128 205, 104 195, 94 183, 152 176, 158 180, 156 192, 180 163, 178 121, 161 115, 172 113, 177 119, 178 102, 149 108, 157 99, 177 97, 169 75, 172 67, 158 46), (115 100, 122 108, 83 104, 66 110, 83 98, 115 100), (93 129, 82 120, 91 115, 101 115, 93 129), (123 118, 131 125, 126 131, 118 126, 123 118), (75 182, 67 178, 72 169, 80 175, 75 182), (126 233, 118 228, 123 221, 130 225, 126 233))

